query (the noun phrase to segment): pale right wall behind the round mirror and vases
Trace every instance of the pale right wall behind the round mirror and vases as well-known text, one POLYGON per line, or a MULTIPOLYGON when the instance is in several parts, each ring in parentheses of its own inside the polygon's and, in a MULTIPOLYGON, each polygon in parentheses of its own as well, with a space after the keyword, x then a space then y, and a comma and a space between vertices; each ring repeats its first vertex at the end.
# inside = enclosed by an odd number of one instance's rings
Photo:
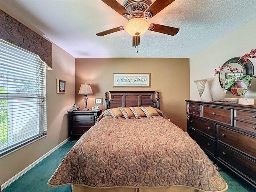
MULTIPOLYGON (((222 98, 244 98, 234 96, 229 91, 221 88, 218 76, 214 75, 214 69, 222 66, 233 57, 243 56, 252 49, 256 49, 256 18, 234 30, 230 34, 204 48, 190 58, 190 99, 200 100, 194 80, 208 79, 202 100, 221 100, 222 98)), ((256 58, 251 59, 256 70, 256 58)), ((256 72, 254 72, 256 74, 256 72)), ((256 79, 252 80, 250 90, 245 94, 246 98, 256 98, 256 79)))

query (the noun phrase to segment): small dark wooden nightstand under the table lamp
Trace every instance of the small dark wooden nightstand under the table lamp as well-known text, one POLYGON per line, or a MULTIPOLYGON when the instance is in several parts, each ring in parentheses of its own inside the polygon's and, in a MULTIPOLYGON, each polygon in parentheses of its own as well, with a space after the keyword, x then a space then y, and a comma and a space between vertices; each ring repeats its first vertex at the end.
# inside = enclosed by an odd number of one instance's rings
POLYGON ((80 138, 86 131, 94 126, 102 109, 95 111, 67 111, 68 112, 68 136, 70 141, 80 138))

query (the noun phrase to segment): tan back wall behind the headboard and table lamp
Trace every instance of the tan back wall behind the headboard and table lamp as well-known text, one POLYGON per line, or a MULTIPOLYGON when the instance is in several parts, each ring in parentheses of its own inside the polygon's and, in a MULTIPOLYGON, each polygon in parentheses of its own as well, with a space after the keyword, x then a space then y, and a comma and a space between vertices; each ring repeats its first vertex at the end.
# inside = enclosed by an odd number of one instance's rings
POLYGON ((187 129, 184 100, 189 99, 188 58, 76 58, 76 103, 84 108, 84 96, 78 95, 82 83, 92 86, 94 94, 88 95, 87 104, 90 109, 95 106, 95 98, 104 101, 107 91, 159 91, 160 110, 182 130, 187 129), (113 73, 150 73, 150 88, 113 87, 113 73))

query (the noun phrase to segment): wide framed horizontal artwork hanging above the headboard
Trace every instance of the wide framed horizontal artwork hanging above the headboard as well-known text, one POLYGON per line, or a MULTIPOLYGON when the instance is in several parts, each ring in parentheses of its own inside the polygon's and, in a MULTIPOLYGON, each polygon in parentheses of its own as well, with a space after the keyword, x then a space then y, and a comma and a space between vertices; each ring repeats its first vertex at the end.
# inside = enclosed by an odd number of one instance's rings
POLYGON ((113 73, 113 87, 150 87, 150 73, 113 73))

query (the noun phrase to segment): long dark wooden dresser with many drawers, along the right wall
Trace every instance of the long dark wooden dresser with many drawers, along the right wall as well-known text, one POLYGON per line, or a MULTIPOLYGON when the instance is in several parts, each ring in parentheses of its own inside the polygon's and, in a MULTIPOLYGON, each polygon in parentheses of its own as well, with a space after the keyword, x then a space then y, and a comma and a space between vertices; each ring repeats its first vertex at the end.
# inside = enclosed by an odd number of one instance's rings
POLYGON ((185 101, 191 138, 210 159, 256 187, 256 106, 185 101))

